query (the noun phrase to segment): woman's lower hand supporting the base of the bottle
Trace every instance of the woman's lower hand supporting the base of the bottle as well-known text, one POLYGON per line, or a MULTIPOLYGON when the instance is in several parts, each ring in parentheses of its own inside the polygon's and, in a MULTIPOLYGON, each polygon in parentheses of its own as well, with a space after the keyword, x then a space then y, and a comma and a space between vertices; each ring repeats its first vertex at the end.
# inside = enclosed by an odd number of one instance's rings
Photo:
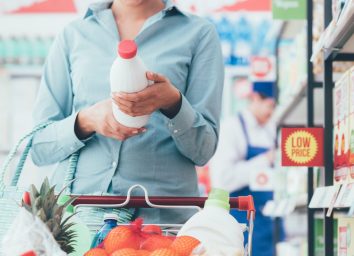
POLYGON ((145 128, 129 128, 118 123, 113 116, 111 99, 100 101, 81 110, 75 123, 75 133, 81 140, 97 132, 123 141, 145 131, 145 128))

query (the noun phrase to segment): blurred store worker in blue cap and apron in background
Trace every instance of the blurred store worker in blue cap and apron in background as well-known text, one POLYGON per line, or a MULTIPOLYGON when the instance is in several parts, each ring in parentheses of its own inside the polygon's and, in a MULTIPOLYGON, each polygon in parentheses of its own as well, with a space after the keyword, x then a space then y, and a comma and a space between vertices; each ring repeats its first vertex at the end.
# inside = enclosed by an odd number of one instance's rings
MULTIPOLYGON (((227 189, 233 197, 253 196, 254 256, 274 255, 274 223, 262 214, 266 202, 273 198, 271 188, 265 190, 262 186, 270 182, 274 164, 276 126, 270 121, 275 108, 274 92, 273 83, 254 82, 248 108, 222 123, 210 168, 212 186, 227 189)), ((232 211, 232 215, 240 223, 247 223, 244 212, 232 211)), ((283 236, 282 230, 280 233, 283 236)))

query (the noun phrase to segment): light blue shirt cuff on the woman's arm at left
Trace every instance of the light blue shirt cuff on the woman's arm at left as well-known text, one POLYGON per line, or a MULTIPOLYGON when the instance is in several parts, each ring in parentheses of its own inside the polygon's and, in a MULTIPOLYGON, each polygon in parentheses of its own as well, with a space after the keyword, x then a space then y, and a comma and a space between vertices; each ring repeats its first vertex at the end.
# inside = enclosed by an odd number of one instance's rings
POLYGON ((64 120, 61 120, 57 123, 57 138, 58 141, 61 142, 62 150, 66 154, 72 154, 78 151, 80 148, 85 146, 85 143, 91 139, 91 137, 85 140, 79 140, 75 134, 75 122, 77 118, 77 114, 75 113, 64 120))

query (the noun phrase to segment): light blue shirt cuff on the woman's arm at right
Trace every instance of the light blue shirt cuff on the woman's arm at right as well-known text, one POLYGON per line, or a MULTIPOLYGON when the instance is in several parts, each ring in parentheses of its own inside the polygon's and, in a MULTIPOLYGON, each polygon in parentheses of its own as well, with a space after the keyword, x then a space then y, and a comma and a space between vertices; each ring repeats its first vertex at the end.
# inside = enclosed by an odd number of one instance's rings
POLYGON ((182 104, 179 112, 174 118, 169 119, 167 124, 172 136, 177 137, 189 130, 193 126, 195 117, 195 110, 182 95, 182 104))

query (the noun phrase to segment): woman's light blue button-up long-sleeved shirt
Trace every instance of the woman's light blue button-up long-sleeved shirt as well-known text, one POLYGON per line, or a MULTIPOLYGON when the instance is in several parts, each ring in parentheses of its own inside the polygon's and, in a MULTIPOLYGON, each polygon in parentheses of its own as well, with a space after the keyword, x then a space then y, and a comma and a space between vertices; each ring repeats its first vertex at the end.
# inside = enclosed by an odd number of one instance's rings
MULTIPOLYGON (((125 195, 139 183, 151 195, 198 196, 195 165, 206 164, 218 142, 224 74, 217 32, 208 21, 166 1, 135 41, 148 69, 168 77, 183 94, 178 114, 169 119, 154 112, 147 132, 124 142, 100 134, 81 141, 74 132, 77 112, 110 98, 109 72, 120 39, 109 6, 92 5, 85 17, 65 27, 50 50, 34 121, 55 123, 35 135, 33 161, 59 163, 52 182, 61 186, 68 157, 80 150, 76 194, 125 195)), ((145 217, 151 222, 187 218, 173 211, 145 217)))

